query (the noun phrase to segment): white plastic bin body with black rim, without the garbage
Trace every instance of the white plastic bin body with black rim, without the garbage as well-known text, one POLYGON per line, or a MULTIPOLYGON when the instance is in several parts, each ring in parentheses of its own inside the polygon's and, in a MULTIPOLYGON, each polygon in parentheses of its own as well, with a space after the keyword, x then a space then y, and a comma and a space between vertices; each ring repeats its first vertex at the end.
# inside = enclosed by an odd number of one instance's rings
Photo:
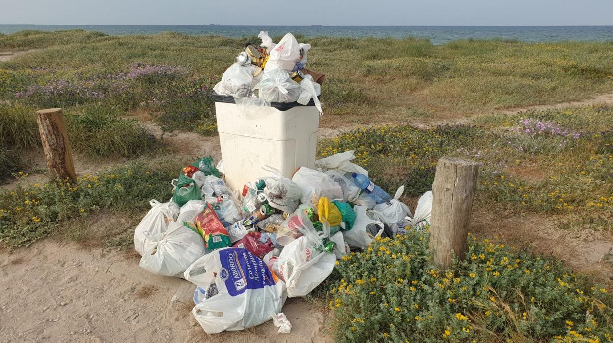
POLYGON ((246 182, 270 176, 262 166, 279 169, 290 179, 300 166, 314 167, 319 111, 313 100, 307 106, 272 103, 243 114, 233 97, 214 97, 221 158, 231 189, 241 192, 246 182))

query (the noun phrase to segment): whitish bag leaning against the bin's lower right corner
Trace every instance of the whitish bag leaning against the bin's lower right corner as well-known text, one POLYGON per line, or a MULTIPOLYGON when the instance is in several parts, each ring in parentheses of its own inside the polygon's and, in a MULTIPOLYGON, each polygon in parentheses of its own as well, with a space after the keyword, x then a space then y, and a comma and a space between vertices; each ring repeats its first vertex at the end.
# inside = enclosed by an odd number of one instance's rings
POLYGON ((331 202, 343 201, 343 188, 322 172, 302 166, 292 181, 302 190, 302 204, 317 204, 320 197, 327 197, 331 202))

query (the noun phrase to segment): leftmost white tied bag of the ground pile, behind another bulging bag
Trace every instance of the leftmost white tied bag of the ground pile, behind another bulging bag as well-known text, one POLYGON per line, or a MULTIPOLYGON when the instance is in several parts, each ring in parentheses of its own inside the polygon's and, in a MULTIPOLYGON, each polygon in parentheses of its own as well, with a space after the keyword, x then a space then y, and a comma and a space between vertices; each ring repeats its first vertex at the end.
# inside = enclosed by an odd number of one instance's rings
POLYGON ((166 232, 168 224, 177 221, 177 216, 180 214, 179 206, 173 201, 160 204, 159 201, 152 200, 149 204, 151 205, 151 210, 134 229, 134 250, 140 256, 154 245, 145 237, 145 232, 151 235, 166 232))

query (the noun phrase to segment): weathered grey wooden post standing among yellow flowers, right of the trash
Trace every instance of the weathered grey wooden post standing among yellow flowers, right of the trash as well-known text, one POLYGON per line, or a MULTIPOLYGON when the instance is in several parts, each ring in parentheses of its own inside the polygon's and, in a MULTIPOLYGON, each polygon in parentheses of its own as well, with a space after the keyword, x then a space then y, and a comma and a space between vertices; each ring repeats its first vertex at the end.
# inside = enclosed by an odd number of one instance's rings
POLYGON ((465 158, 441 157, 436 164, 430 251, 438 267, 451 267, 454 253, 464 258, 478 171, 479 164, 465 158))

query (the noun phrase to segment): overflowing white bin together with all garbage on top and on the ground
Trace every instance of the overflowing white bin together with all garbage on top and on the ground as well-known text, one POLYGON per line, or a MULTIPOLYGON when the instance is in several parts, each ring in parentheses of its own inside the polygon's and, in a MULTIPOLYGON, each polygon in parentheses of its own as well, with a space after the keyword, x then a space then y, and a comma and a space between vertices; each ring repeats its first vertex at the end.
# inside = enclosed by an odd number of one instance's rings
POLYGON ((324 76, 305 75, 311 46, 260 37, 215 87, 223 161, 178 168, 172 199, 152 200, 134 231, 141 267, 194 284, 192 314, 209 334, 268 320, 289 332, 288 297, 308 295, 375 237, 430 221, 432 192, 411 215, 404 186, 390 196, 353 151, 315 160, 324 76))

